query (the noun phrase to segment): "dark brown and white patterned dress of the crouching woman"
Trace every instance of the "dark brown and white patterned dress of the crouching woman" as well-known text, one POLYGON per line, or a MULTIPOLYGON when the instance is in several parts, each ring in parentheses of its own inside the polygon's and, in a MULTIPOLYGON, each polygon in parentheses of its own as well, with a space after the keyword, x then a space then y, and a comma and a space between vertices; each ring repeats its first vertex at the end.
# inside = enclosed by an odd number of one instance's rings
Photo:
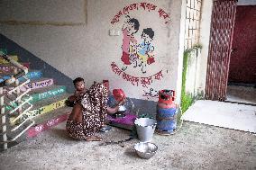
POLYGON ((73 139, 87 139, 94 136, 97 131, 105 127, 106 123, 107 89, 105 85, 92 85, 83 95, 80 104, 82 105, 82 121, 78 122, 70 114, 66 130, 73 139))

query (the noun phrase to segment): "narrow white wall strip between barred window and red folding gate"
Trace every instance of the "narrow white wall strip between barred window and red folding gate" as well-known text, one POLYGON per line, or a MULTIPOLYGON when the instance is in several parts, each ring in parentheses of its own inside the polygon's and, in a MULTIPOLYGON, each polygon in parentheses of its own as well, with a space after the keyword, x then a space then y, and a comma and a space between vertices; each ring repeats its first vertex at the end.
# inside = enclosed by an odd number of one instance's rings
POLYGON ((201 8, 199 44, 202 49, 193 50, 187 60, 186 92, 197 96, 206 89, 206 69, 210 40, 213 1, 203 1, 201 8))

